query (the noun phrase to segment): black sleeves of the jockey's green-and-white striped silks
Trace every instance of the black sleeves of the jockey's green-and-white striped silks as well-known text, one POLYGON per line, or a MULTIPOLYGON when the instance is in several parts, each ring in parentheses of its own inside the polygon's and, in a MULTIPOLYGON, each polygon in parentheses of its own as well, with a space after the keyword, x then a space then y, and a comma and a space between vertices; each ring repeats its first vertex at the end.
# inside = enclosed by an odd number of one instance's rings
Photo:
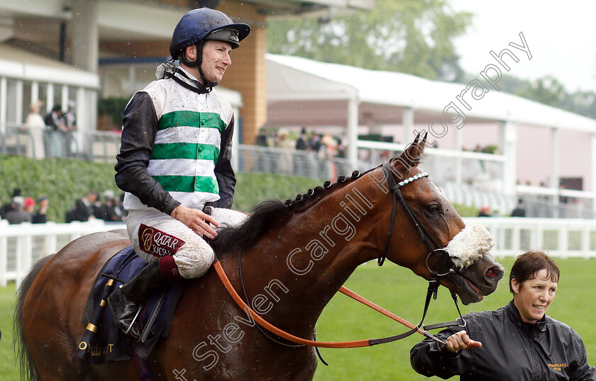
MULTIPOLYGON (((221 148, 215 164, 220 198, 211 203, 216 207, 230 208, 233 203, 236 186, 230 162, 233 128, 232 118, 221 134, 221 148)), ((122 191, 136 195, 145 205, 170 215, 180 202, 164 191, 147 171, 157 132, 158 117, 153 101, 148 93, 138 91, 124 110, 120 154, 116 156, 116 185, 122 191)))

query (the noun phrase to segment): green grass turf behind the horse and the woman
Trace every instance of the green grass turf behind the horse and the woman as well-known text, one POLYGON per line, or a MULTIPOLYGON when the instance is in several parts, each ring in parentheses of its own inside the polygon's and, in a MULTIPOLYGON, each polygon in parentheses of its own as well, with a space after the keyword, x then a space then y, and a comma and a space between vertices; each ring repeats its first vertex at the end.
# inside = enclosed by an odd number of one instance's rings
MULTIPOLYGON (((505 277, 513 258, 497 258, 505 267, 505 277)), ((569 324, 582 336, 591 365, 596 363, 596 304, 592 284, 596 259, 557 259, 561 268, 557 296, 548 315, 569 324)), ((426 295, 426 281, 406 268, 386 263, 378 268, 370 262, 360 266, 346 283, 346 287, 369 300, 389 309, 409 322, 417 323, 421 317, 426 295)), ((431 302, 426 324, 443 322, 456 317, 451 297, 445 288, 438 293, 438 300, 431 302)), ((497 309, 509 302, 511 296, 507 280, 502 280, 497 291, 479 304, 462 308, 462 313, 497 309)), ((12 350, 12 314, 15 300, 14 283, 0 288, 0 380, 21 380, 12 350)), ((317 324, 319 341, 347 341, 391 336, 406 331, 406 327, 393 322, 372 309, 338 294, 331 300, 317 324)), ((425 380, 414 373, 409 365, 409 350, 421 340, 420 335, 381 346, 354 349, 326 349, 321 353, 330 364, 319 363, 315 380, 425 380)), ((438 378, 434 377, 438 380, 438 378)))

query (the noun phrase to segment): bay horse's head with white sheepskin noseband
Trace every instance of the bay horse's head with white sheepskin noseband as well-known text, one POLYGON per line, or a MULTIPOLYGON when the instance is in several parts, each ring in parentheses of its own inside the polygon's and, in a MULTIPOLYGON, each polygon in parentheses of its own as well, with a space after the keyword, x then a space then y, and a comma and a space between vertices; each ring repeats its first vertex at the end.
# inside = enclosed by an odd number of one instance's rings
POLYGON ((438 274, 441 284, 456 292, 464 305, 479 302, 495 291, 503 268, 490 255, 490 233, 479 224, 465 226, 428 174, 416 168, 425 140, 416 137, 399 157, 368 173, 385 193, 386 213, 394 216, 387 220, 400 226, 390 227, 387 258, 426 279, 438 274))

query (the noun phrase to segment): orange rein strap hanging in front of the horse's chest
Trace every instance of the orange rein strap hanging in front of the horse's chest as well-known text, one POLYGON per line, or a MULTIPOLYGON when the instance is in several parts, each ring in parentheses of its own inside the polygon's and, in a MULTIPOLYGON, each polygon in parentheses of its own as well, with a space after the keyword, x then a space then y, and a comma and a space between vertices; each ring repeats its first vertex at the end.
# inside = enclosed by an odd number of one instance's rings
MULTIPOLYGON (((219 276, 219 279, 221 280, 221 283, 223 283, 223 286, 226 288, 226 290, 228 290, 228 293, 231 295, 232 299, 236 302, 236 304, 239 307, 241 307, 242 309, 244 309, 247 314, 250 314, 250 317, 252 317, 253 320, 257 324, 259 324, 263 328, 267 329, 267 331, 270 331, 272 334, 276 334, 277 336, 282 337, 283 339, 292 341, 292 343, 302 344, 305 346, 316 346, 316 347, 321 347, 321 348, 361 348, 364 346, 373 346, 377 343, 384 343, 384 342, 379 342, 379 339, 365 339, 365 340, 355 340, 355 341, 327 341, 327 342, 326 341, 312 341, 312 340, 299 338, 292 334, 288 334, 286 331, 282 331, 281 329, 277 328, 276 326, 273 326, 272 324, 267 322, 265 319, 260 317, 256 312, 253 311, 253 309, 251 309, 244 302, 244 300, 242 300, 240 295, 238 295, 238 292, 236 292, 236 290, 233 288, 232 284, 230 283, 230 280, 228 279, 228 276, 226 275, 225 271, 223 271, 223 268, 221 267, 221 263, 219 261, 216 261, 213 264, 213 266, 215 268, 215 271, 217 272, 217 275, 219 276)), ((397 316, 396 314, 393 314, 392 312, 387 311, 387 309, 384 309, 380 306, 375 305, 375 303, 366 300, 364 297, 361 297, 360 295, 356 294, 355 292, 353 292, 351 290, 348 290, 347 288, 345 288, 343 286, 339 289, 339 291, 345 295, 348 295, 353 300, 357 300, 358 302, 363 303, 364 305, 367 305, 368 307, 374 309, 375 311, 380 312, 381 314, 384 314, 386 317, 390 317, 391 319, 394 319, 396 322, 404 324, 404 326, 407 326, 408 328, 410 328, 412 330, 416 329, 416 326, 414 324, 407 322, 406 320, 402 319, 401 317, 397 316)), ((422 331, 421 329, 416 329, 416 331, 419 334, 422 334, 424 336, 429 335, 426 331, 422 331)), ((385 342, 390 342, 390 341, 385 341, 385 342)))

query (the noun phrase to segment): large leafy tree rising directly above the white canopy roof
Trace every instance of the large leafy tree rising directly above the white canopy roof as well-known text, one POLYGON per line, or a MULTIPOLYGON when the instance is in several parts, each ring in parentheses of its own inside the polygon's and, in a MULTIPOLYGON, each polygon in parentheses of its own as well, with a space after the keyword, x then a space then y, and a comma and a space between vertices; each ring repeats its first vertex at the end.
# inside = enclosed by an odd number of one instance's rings
POLYGON ((371 11, 268 21, 267 50, 322 62, 458 81, 463 75, 453 39, 471 14, 445 0, 376 0, 371 11))

